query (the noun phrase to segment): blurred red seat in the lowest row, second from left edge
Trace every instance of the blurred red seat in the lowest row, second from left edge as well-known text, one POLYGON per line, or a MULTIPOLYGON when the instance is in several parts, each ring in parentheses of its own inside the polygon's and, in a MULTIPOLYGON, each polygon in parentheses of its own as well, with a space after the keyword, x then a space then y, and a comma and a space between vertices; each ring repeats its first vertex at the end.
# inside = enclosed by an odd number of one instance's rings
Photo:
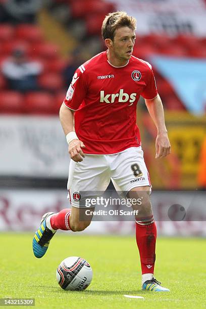
POLYGON ((25 96, 25 111, 28 114, 56 114, 53 95, 47 92, 29 92, 25 96))

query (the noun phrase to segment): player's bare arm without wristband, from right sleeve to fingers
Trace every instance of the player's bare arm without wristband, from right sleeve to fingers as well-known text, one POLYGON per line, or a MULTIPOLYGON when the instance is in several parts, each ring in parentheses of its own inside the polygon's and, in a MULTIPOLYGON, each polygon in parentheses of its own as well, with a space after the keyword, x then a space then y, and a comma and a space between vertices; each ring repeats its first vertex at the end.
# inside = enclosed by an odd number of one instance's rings
POLYGON ((171 153, 171 147, 165 125, 165 116, 160 95, 158 94, 151 100, 145 99, 145 104, 149 115, 158 130, 158 135, 156 138, 156 159, 164 158, 171 153))

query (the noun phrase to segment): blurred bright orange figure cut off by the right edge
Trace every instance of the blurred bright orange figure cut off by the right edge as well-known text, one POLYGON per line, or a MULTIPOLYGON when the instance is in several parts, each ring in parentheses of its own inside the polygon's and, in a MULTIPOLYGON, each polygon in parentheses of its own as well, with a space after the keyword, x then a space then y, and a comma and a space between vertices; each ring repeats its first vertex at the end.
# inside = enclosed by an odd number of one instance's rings
POLYGON ((200 189, 206 190, 206 136, 199 157, 198 186, 200 189))

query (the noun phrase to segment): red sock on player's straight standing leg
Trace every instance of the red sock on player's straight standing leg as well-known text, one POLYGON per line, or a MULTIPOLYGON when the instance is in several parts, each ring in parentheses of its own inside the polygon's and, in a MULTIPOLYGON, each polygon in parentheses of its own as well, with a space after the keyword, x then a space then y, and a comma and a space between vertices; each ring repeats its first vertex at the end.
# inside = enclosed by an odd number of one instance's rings
POLYGON ((136 242, 139 249, 142 274, 154 273, 156 238, 157 227, 155 222, 148 225, 136 223, 136 242))

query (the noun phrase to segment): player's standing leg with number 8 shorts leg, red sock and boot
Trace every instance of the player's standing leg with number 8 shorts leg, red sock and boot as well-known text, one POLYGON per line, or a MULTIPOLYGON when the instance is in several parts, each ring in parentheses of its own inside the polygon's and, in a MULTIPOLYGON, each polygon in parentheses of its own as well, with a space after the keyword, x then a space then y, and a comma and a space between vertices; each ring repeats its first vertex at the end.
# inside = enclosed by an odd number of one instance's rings
POLYGON ((142 288, 153 291, 169 291, 161 287, 153 275, 157 228, 153 220, 150 203, 150 181, 143 160, 143 151, 140 147, 128 148, 118 154, 113 165, 112 178, 114 182, 121 191, 127 193, 127 198, 133 199, 132 207, 134 210, 138 210, 135 217, 136 242, 142 269, 142 288), (139 200, 141 200, 141 203, 138 202, 139 200))

